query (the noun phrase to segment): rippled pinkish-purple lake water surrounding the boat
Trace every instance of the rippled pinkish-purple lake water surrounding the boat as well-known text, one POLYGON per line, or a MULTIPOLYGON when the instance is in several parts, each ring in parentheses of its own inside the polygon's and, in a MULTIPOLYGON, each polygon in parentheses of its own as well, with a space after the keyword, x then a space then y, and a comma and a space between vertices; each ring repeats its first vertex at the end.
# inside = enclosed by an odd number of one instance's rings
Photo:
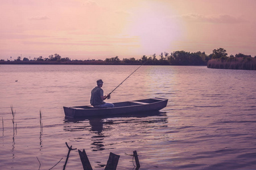
POLYGON ((82 169, 83 149, 93 169, 110 152, 118 169, 133 169, 134 150, 140 169, 256 169, 256 71, 142 66, 108 102, 166 98, 160 113, 65 119, 63 106, 89 105, 97 79, 107 94, 137 67, 0 65, 0 169, 49 169, 61 158, 53 169, 63 169, 65 142, 77 148, 66 169, 82 169))

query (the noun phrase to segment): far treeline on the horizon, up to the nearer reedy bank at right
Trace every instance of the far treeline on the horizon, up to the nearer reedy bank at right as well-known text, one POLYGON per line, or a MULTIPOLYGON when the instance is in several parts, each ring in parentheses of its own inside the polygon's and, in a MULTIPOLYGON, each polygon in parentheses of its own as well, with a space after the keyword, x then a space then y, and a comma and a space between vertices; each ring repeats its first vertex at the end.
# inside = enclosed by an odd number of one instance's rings
POLYGON ((0 64, 46 64, 46 65, 141 65, 146 62, 146 65, 207 65, 209 58, 203 52, 189 53, 184 51, 177 51, 174 53, 161 53, 158 56, 156 54, 150 57, 142 56, 140 59, 123 58, 119 59, 118 56, 112 58, 106 58, 105 60, 87 59, 87 60, 71 60, 69 57, 61 57, 59 54, 54 54, 48 58, 43 58, 42 56, 34 59, 28 59, 24 57, 23 59, 19 56, 14 61, 7 59, 1 60, 0 64))

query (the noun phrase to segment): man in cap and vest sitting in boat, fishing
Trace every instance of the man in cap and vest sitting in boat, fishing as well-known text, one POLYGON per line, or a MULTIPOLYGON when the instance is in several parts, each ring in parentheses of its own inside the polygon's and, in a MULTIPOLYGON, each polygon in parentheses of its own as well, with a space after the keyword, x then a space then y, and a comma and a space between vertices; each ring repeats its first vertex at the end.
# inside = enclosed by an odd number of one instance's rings
POLYGON ((106 103, 104 100, 109 99, 110 95, 104 96, 104 91, 102 90, 103 81, 101 79, 97 80, 97 86, 93 88, 90 96, 90 104, 95 108, 113 108, 114 104, 106 103))

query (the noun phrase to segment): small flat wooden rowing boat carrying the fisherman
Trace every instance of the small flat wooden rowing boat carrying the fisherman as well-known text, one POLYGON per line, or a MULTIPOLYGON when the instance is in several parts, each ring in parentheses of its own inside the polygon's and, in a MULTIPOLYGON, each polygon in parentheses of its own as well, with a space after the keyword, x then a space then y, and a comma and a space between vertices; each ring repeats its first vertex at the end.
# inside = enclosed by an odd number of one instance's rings
POLYGON ((94 108, 93 106, 63 107, 66 117, 106 116, 133 112, 159 111, 166 107, 168 99, 151 98, 113 103, 114 108, 94 108))

